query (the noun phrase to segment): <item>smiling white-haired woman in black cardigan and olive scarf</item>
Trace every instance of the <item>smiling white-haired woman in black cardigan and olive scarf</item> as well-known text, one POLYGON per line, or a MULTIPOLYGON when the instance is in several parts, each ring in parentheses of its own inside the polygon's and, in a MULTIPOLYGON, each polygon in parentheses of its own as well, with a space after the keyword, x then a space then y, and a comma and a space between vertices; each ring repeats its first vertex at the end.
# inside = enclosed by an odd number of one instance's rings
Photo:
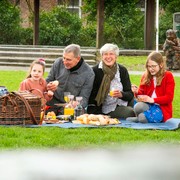
POLYGON ((95 79, 87 112, 106 114, 113 118, 135 116, 128 71, 116 62, 118 46, 107 43, 100 49, 100 54, 102 61, 93 67, 95 79))

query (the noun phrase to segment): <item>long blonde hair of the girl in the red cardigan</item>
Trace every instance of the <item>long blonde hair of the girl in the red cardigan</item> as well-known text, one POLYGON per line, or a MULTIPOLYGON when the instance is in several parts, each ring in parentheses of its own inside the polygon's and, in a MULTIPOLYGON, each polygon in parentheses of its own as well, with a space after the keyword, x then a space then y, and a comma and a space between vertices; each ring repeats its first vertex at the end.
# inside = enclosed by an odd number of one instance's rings
POLYGON ((164 73, 166 71, 166 64, 165 64, 165 60, 162 56, 161 53, 153 51, 149 54, 149 56, 147 57, 146 60, 146 72, 145 72, 145 77, 142 81, 142 84, 146 84, 149 85, 150 84, 150 80, 152 79, 152 75, 148 70, 148 61, 154 61, 159 65, 160 70, 157 72, 156 74, 156 82, 157 82, 157 86, 161 84, 161 81, 164 77, 164 73))

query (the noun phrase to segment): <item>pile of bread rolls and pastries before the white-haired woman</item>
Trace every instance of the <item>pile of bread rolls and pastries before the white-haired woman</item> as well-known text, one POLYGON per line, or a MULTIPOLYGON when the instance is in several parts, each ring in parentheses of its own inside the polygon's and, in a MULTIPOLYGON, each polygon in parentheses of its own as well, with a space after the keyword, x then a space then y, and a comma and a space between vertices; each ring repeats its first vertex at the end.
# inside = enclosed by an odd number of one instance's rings
POLYGON ((106 115, 95 115, 95 114, 83 114, 77 116, 76 120, 73 121, 75 124, 91 124, 91 125, 109 125, 119 124, 120 121, 116 118, 110 118, 106 115))

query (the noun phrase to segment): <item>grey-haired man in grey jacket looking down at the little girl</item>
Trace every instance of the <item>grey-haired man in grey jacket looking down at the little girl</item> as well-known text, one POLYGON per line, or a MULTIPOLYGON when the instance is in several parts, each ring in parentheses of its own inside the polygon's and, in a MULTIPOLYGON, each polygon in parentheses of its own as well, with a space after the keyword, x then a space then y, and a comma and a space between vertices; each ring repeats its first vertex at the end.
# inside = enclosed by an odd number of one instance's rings
POLYGON ((56 114, 62 114, 62 109, 56 106, 59 103, 65 103, 64 92, 70 92, 72 95, 82 96, 82 106, 85 108, 94 81, 94 72, 92 68, 81 57, 80 46, 70 44, 63 51, 63 58, 58 58, 46 79, 49 90, 55 90, 52 100, 47 102, 48 111, 54 111, 56 114), (51 81, 58 80, 59 85, 51 84, 51 81))

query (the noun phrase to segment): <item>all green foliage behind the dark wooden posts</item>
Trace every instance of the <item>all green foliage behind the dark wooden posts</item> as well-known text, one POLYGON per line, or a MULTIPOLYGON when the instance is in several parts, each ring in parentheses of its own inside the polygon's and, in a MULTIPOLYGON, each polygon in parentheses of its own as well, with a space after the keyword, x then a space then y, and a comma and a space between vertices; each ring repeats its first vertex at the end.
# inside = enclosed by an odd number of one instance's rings
MULTIPOLYGON (((104 2, 104 43, 116 43, 126 49, 143 49, 144 12, 138 6, 139 0, 104 2)), ((97 0, 83 0, 82 12, 82 19, 62 6, 40 12, 40 44, 64 46, 78 43, 81 46, 95 46, 97 0)), ((166 30, 173 28, 173 13, 180 12, 180 1, 160 0, 160 12, 159 42, 162 44, 166 30)), ((18 6, 13 6, 8 0, 1 0, 0 16, 1 44, 32 44, 33 29, 20 26, 18 6)))

